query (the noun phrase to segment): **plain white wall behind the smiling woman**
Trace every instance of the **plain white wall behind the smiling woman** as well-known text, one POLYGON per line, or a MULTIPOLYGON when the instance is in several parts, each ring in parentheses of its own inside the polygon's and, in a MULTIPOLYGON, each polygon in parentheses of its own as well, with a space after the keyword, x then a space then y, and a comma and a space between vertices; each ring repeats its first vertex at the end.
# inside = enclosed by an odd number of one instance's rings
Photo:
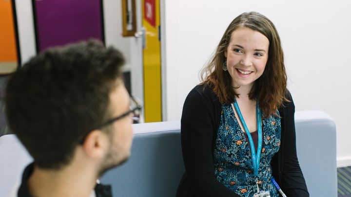
POLYGON ((351 165, 350 8, 347 0, 166 1, 168 120, 180 119, 188 92, 199 82, 199 71, 229 23, 243 12, 256 11, 279 32, 296 110, 331 115, 338 165, 351 165))

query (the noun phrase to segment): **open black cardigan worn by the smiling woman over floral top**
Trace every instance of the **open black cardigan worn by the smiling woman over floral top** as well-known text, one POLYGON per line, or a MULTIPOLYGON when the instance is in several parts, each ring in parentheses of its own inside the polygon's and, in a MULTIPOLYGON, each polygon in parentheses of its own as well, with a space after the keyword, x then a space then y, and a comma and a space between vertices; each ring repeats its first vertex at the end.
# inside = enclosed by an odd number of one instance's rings
MULTIPOLYGON (((288 197, 309 197, 306 182, 296 156, 295 106, 280 107, 281 143, 273 156, 273 177, 288 197)), ((215 178, 214 146, 220 123, 221 104, 206 85, 196 86, 188 94, 181 117, 181 145, 185 173, 176 197, 239 197, 215 178)))

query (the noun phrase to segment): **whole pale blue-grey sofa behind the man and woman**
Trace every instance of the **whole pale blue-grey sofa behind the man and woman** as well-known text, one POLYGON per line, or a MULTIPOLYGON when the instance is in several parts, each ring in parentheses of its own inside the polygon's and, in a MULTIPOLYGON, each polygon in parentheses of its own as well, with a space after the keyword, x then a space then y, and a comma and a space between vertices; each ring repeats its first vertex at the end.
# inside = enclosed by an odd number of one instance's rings
MULTIPOLYGON (((335 124, 324 112, 295 113, 297 155, 311 197, 336 197, 335 124)), ((184 173, 180 122, 133 125, 132 156, 100 181, 115 197, 174 197, 184 173)), ((19 182, 32 161, 15 135, 0 137, 0 197, 19 182)))

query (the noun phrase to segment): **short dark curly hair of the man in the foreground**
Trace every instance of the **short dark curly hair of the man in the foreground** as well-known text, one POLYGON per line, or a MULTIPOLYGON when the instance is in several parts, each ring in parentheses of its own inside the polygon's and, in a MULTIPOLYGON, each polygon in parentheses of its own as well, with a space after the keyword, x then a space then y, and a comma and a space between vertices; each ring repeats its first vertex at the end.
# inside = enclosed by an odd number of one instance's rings
POLYGON ((37 166, 68 164, 84 135, 110 118, 109 95, 123 64, 119 51, 89 40, 51 48, 11 76, 8 125, 37 166))

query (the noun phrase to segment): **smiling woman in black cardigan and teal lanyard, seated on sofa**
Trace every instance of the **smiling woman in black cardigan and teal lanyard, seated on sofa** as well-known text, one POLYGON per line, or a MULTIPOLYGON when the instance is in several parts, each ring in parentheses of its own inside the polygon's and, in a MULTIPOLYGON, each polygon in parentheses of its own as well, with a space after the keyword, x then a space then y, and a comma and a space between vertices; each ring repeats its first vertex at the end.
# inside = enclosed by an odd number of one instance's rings
POLYGON ((183 107, 186 172, 176 196, 308 197, 273 23, 256 12, 239 15, 209 62, 183 107))

